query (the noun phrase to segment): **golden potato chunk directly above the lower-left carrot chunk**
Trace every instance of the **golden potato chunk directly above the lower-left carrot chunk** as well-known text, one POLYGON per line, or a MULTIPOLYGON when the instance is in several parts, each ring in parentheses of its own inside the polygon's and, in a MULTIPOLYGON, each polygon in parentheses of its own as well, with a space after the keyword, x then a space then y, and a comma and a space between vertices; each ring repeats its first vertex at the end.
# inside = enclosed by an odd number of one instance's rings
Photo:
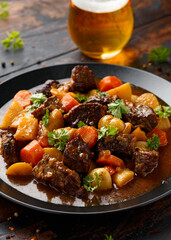
POLYGON ((38 132, 38 120, 34 117, 23 117, 18 125, 14 138, 19 141, 30 141, 36 138, 38 132))

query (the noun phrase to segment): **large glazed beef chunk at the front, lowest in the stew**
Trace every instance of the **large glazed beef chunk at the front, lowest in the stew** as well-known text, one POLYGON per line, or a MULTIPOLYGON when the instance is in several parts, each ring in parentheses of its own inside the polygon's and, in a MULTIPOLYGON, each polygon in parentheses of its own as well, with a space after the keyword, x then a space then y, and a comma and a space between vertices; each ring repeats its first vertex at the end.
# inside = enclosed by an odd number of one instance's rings
POLYGON ((43 159, 33 168, 33 175, 37 180, 72 196, 77 196, 82 192, 78 173, 48 154, 44 154, 43 159))

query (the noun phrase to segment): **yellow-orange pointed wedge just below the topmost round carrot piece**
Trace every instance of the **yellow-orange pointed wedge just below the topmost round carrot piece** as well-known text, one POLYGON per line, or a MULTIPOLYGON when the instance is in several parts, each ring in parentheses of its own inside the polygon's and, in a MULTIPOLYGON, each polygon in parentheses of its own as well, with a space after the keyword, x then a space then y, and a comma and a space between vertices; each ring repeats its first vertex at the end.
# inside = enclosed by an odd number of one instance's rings
POLYGON ((132 89, 130 83, 125 83, 119 87, 107 91, 110 96, 117 95, 121 99, 131 101, 132 89))

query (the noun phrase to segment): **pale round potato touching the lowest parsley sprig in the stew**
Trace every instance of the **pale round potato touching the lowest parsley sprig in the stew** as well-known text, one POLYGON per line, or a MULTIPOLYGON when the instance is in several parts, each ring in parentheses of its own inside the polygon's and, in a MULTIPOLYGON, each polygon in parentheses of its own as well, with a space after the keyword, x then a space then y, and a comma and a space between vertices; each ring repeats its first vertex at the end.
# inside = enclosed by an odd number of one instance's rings
POLYGON ((96 189, 97 191, 101 190, 105 191, 112 188, 112 178, 105 168, 95 168, 89 173, 89 175, 91 175, 94 178, 91 185, 92 187, 98 186, 98 188, 96 189), (95 176, 96 173, 98 175, 99 180, 101 181, 100 186, 99 181, 96 180, 95 176))

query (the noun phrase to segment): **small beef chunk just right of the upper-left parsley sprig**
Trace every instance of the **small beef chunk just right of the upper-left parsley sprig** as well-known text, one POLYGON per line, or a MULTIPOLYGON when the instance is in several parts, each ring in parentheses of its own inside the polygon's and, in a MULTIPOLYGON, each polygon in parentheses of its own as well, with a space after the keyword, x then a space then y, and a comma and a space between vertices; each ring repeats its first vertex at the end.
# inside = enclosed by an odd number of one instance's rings
POLYGON ((61 103, 56 96, 51 96, 48 99, 46 99, 40 107, 36 108, 32 112, 32 114, 34 115, 35 118, 41 120, 46 113, 46 109, 48 109, 51 112, 56 108, 61 109, 62 108, 61 103))

